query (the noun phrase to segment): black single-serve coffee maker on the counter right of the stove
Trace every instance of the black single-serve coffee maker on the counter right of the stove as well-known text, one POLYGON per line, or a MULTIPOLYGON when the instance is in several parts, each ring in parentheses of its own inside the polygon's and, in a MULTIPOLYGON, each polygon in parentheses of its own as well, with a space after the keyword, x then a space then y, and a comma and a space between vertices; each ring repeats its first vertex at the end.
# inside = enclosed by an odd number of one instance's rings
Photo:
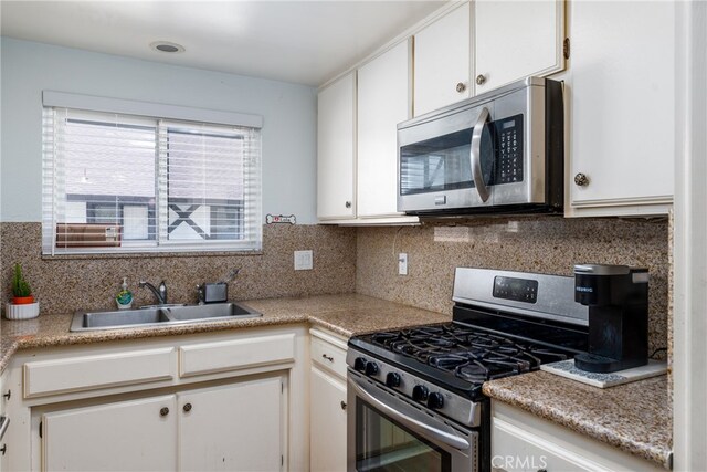
POLYGON ((589 306, 589 353, 574 366, 614 373, 648 361, 648 270, 574 265, 574 301, 589 306))

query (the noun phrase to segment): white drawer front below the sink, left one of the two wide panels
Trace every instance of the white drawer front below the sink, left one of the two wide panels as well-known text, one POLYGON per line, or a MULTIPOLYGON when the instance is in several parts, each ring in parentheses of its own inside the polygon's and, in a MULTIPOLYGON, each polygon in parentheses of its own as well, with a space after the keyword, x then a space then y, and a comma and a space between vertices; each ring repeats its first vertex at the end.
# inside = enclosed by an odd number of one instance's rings
POLYGON ((24 398, 175 378, 175 348, 27 363, 24 398))

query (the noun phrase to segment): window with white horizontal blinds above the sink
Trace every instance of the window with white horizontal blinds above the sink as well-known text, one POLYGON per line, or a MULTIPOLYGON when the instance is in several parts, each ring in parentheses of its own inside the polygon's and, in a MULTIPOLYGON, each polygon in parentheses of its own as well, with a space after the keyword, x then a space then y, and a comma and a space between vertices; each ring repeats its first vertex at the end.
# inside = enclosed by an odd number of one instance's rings
POLYGON ((43 144, 45 254, 261 249, 260 127, 45 106, 43 144))

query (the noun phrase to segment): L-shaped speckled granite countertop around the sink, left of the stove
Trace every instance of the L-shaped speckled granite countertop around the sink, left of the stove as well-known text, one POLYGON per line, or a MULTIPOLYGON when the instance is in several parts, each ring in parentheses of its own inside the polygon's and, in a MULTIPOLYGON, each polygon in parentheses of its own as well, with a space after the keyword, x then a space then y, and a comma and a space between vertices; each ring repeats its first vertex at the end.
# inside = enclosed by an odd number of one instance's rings
POLYGON ((261 312, 263 316, 163 327, 135 327, 82 333, 68 331, 73 313, 40 315, 34 319, 23 321, 2 319, 0 326, 0 373, 4 370, 18 349, 36 347, 93 344, 307 322, 341 336, 350 337, 366 332, 452 321, 451 315, 358 294, 250 300, 239 303, 261 312))

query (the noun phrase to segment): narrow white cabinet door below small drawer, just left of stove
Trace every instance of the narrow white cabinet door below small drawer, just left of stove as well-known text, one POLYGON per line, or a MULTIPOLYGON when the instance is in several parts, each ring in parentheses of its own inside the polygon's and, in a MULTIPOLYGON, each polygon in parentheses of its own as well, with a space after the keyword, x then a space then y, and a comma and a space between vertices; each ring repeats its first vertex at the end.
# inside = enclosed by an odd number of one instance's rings
POLYGON ((317 368, 310 377, 310 469, 346 471, 346 384, 317 368))

